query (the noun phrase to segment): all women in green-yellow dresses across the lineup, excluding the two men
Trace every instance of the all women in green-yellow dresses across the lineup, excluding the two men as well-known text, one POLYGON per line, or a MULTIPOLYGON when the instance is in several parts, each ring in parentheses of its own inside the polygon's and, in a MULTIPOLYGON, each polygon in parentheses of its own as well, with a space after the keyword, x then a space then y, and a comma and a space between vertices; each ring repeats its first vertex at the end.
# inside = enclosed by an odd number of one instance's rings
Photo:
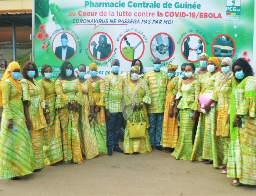
MULTIPOLYGON (((230 185, 256 185, 256 79, 252 67, 241 58, 234 63, 224 58, 219 72, 218 59, 206 53, 200 54, 198 66, 200 70, 195 72, 194 64, 182 64, 180 79, 175 76, 178 66, 167 66, 161 145, 176 159, 213 163, 224 169, 221 173, 234 178, 230 185), (208 101, 201 103, 200 97, 208 101)), ((0 178, 19 180, 17 176, 41 171, 44 164, 60 160, 82 163, 82 155, 91 159, 107 154, 105 85, 97 69, 91 64, 91 77, 86 80, 86 66, 81 64, 77 79, 72 64, 64 62, 54 82, 52 68, 44 65, 43 79, 35 81, 38 70, 29 61, 19 82, 19 64, 9 64, 0 83, 0 104, 4 106, 0 178)), ((123 115, 126 124, 135 118, 148 128, 143 105, 151 99, 143 73, 141 61, 135 59, 130 73, 122 74, 123 115)), ((147 129, 144 138, 131 139, 126 126, 124 153, 151 151, 147 129)))

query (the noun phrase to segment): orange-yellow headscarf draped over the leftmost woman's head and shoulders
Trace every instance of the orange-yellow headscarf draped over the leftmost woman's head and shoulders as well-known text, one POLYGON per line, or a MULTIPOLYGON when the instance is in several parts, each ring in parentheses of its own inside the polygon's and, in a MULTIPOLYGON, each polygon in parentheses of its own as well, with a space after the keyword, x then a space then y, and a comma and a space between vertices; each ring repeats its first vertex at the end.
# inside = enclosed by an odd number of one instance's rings
MULTIPOLYGON (((19 69, 20 70, 20 65, 16 61, 13 61, 8 65, 6 71, 5 71, 5 73, 4 73, 4 75, 1 79, 0 84, 4 80, 9 79, 13 83, 13 85, 15 85, 19 90, 22 90, 22 87, 19 83, 19 80, 14 80, 12 78, 12 70, 14 70, 14 69, 19 69)), ((0 105, 2 105, 2 104, 3 104, 3 102, 2 102, 2 89, 1 89, 1 85, 0 85, 0 105)))

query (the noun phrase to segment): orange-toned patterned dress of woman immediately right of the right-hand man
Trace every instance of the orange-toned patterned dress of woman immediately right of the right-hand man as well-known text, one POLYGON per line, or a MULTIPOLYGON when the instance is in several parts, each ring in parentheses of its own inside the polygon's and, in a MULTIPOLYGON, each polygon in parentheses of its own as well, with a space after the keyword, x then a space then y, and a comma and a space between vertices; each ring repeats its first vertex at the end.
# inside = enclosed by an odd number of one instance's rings
MULTIPOLYGON (((178 141, 178 122, 175 115, 173 118, 169 117, 169 111, 171 109, 171 103, 173 102, 173 96, 176 96, 178 91, 179 78, 174 76, 169 79, 167 84, 167 90, 165 94, 165 112, 163 115, 163 128, 161 135, 161 145, 163 147, 175 148, 178 141)), ((175 106, 173 106, 174 114, 175 106)))

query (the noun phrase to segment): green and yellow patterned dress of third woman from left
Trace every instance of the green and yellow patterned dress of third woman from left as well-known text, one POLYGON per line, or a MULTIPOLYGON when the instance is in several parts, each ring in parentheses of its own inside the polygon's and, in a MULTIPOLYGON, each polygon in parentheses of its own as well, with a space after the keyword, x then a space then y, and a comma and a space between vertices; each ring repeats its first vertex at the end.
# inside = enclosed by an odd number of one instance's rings
POLYGON ((63 160, 59 110, 55 109, 55 82, 39 80, 43 88, 43 100, 48 105, 50 123, 43 129, 45 165, 52 165, 63 160))

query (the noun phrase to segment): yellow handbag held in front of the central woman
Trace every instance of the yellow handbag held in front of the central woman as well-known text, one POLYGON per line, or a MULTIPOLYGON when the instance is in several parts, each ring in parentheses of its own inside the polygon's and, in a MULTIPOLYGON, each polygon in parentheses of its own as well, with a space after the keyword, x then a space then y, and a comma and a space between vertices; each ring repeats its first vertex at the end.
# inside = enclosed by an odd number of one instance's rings
POLYGON ((141 122, 134 122, 134 119, 135 119, 135 111, 134 111, 134 116, 132 118, 132 122, 127 123, 128 131, 129 131, 129 137, 131 139, 133 139, 133 138, 144 138, 147 123, 142 122, 141 111, 139 111, 139 119, 140 119, 141 122))

